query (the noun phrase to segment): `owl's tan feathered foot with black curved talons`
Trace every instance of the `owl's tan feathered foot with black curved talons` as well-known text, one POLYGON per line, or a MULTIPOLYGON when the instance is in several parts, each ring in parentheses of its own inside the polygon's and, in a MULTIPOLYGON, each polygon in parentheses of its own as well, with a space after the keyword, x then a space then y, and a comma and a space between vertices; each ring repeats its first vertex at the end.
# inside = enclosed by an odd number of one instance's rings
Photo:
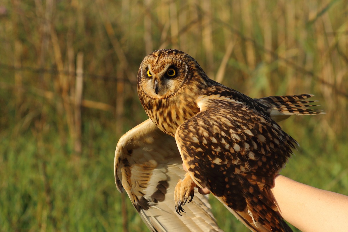
POLYGON ((182 206, 185 205, 188 198, 190 198, 189 202, 192 201, 193 195, 195 194, 195 191, 193 187, 196 187, 195 182, 193 182, 191 176, 186 173, 185 177, 183 179, 180 179, 179 182, 175 186, 174 190, 174 202, 175 202, 175 210, 176 213, 181 215, 181 212, 185 211, 183 210, 182 206))

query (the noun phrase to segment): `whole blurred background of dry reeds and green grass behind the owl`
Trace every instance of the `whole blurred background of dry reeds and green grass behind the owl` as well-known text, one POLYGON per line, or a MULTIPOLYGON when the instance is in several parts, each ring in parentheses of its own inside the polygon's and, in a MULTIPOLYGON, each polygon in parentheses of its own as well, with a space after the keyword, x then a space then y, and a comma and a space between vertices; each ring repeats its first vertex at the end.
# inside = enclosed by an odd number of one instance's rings
POLYGON ((315 94, 325 115, 281 123, 301 145, 282 174, 348 195, 347 1, 2 0, 0 41, 0 231, 147 231, 113 155, 159 48, 254 98, 315 94))

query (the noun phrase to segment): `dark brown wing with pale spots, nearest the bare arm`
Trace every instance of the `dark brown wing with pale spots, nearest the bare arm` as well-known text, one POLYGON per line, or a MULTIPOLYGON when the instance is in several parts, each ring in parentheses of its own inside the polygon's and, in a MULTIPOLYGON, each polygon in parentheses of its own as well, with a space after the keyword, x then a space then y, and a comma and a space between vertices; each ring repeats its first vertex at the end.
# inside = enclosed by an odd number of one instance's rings
POLYGON ((201 111, 175 134, 193 181, 250 230, 291 231, 270 187, 296 141, 272 119, 234 99, 201 96, 197 104, 201 111))

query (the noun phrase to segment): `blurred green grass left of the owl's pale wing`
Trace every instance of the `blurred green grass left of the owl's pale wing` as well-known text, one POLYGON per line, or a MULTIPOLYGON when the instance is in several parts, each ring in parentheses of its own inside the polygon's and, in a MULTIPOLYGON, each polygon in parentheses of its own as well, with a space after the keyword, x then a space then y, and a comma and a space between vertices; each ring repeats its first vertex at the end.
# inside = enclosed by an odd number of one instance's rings
MULTIPOLYGON (((100 131, 97 138, 81 156, 66 154, 54 131, 41 147, 30 132, 12 141, 3 138, 0 231, 120 228, 121 198, 113 179, 117 140, 112 131, 100 131)), ((146 228, 134 210, 129 218, 130 231, 146 228)))

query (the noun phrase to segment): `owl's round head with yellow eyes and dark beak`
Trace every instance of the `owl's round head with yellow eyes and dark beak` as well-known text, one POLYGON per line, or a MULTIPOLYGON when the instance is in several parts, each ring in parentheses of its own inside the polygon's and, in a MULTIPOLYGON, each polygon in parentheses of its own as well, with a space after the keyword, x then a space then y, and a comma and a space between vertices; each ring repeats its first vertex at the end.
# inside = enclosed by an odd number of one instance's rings
POLYGON ((179 50, 162 49, 153 51, 143 59, 137 88, 139 94, 152 99, 164 99, 178 94, 187 86, 194 89, 191 82, 196 79, 200 79, 198 83, 201 86, 200 82, 209 78, 195 59, 179 50))

